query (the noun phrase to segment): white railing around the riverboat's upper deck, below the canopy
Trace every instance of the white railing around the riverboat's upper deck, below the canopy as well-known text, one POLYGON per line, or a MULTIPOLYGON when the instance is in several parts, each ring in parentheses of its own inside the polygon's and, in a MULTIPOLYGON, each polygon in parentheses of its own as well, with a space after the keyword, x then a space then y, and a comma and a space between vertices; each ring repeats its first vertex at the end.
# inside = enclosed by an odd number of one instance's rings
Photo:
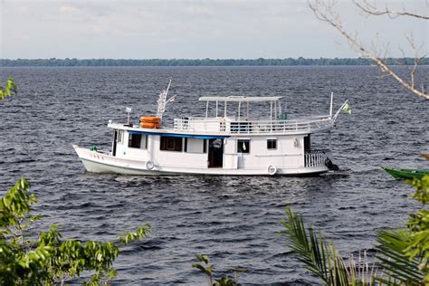
POLYGON ((227 134, 263 134, 296 133, 332 127, 329 116, 318 116, 295 120, 235 120, 231 118, 189 118, 175 119, 175 131, 227 133, 227 134))

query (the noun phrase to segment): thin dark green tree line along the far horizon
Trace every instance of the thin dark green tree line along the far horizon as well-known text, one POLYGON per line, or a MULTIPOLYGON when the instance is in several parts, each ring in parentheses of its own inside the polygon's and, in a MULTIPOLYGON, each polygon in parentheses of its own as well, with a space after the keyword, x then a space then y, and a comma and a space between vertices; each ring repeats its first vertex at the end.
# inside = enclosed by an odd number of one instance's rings
MULTIPOLYGON (((388 65, 413 65, 414 58, 386 58, 388 65)), ((0 59, 2 67, 73 67, 73 66, 300 66, 300 65, 371 65, 370 59, 365 58, 319 58, 305 59, 0 59)), ((429 64, 429 58, 423 58, 422 65, 429 64)))

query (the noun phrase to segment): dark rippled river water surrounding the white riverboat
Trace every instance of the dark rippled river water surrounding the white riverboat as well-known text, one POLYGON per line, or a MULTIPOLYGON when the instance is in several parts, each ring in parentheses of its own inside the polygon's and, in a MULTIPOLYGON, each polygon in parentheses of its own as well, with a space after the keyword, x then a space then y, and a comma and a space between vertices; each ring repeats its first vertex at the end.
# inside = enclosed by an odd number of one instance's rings
MULTIPOLYGON (((428 67, 420 77, 429 86, 428 67)), ((16 68, 20 94, 0 101, 0 189, 27 177, 44 216, 40 230, 61 224, 66 237, 114 239, 138 224, 148 239, 127 247, 115 283, 202 284, 191 268, 207 253, 215 272, 247 270, 244 283, 315 282, 288 253, 279 219, 284 207, 302 214, 347 253, 373 249, 374 233, 398 225, 418 207, 412 188, 380 166, 428 167, 428 102, 380 77, 376 67, 279 68, 16 68), (109 148, 109 119, 153 113, 173 78, 168 117, 198 115, 199 96, 282 95, 292 115, 326 114, 350 100, 333 136, 340 175, 117 176, 84 171, 71 144, 109 148)), ((4 79, 2 80, 4 81, 4 79)))

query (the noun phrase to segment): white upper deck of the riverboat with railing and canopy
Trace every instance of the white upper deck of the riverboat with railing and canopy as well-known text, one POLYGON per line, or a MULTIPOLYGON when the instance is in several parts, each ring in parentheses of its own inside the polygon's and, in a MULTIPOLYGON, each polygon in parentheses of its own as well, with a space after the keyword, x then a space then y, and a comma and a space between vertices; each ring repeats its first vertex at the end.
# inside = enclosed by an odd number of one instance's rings
MULTIPOLYGON (((281 110, 280 96, 273 97, 202 97, 199 101, 205 101, 205 117, 183 117, 174 119, 173 128, 142 129, 140 127, 122 126, 110 123, 113 129, 129 129, 148 133, 176 133, 191 135, 287 135, 309 134, 327 132, 334 126, 335 119, 331 115, 302 117, 300 119, 286 119, 287 114, 281 110), (213 117, 209 117, 210 102, 215 102, 213 117), (262 102, 269 103, 269 114, 265 119, 250 117, 250 105, 256 102, 261 109, 262 102), (232 108, 235 109, 231 111, 232 108), (229 109, 229 110, 228 110, 229 109), (233 114, 233 115, 232 115, 233 114)), ((268 106, 267 106, 268 108, 268 106)), ((266 112, 268 113, 268 112, 266 112)))

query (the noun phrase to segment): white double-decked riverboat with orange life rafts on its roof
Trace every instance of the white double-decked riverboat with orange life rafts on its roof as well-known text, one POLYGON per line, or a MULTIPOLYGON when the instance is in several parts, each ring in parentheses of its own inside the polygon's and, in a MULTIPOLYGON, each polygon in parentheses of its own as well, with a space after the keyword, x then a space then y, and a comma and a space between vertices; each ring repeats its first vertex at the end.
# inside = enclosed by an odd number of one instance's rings
POLYGON ((142 116, 133 124, 127 109, 126 124, 109 120, 110 150, 73 145, 88 172, 312 176, 338 169, 331 130, 347 101, 333 114, 331 94, 328 115, 288 119, 281 96, 200 97, 205 116, 186 115, 168 125, 163 115, 176 97, 167 100, 170 84, 159 94, 156 115, 142 116))

